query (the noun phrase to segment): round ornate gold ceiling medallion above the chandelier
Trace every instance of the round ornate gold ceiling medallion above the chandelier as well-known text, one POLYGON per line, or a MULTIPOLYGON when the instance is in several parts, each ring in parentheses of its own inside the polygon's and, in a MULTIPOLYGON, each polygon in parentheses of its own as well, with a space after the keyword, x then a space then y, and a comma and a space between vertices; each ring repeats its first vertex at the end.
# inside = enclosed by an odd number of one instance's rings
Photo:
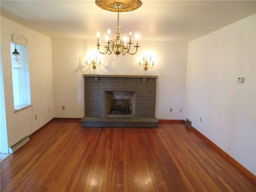
POLYGON ((95 3, 98 7, 112 12, 118 12, 117 6, 119 6, 119 12, 128 12, 142 5, 140 0, 96 0, 95 3))

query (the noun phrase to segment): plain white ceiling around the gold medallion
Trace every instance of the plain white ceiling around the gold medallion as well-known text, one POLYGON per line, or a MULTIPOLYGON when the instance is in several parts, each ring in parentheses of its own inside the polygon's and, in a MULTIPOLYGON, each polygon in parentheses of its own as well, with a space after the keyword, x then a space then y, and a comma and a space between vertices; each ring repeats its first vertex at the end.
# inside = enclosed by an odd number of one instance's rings
MULTIPOLYGON (((117 13, 103 10, 94 0, 1 0, 1 16, 51 38, 101 38, 116 32, 117 13)), ((144 41, 190 41, 250 16, 256 1, 142 0, 131 12, 120 12, 122 36, 139 32, 144 41)))

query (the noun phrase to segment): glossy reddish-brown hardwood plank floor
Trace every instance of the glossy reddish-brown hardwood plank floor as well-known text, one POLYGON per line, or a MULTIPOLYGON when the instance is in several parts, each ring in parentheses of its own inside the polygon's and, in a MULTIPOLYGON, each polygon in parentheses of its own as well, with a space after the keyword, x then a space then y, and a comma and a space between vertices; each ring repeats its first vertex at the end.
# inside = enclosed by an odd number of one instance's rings
POLYGON ((56 121, 1 163, 1 192, 255 192, 256 184, 182 123, 81 128, 56 121))

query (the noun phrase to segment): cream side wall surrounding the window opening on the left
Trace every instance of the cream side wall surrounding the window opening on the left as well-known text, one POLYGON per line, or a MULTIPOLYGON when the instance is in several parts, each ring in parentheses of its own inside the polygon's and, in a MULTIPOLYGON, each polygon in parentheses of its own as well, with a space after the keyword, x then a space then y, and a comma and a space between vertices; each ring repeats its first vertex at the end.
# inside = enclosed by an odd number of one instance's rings
POLYGON ((11 146, 24 136, 36 131, 53 117, 51 39, 1 17, 1 51, 8 146, 11 146), (32 107, 16 113, 14 113, 10 55, 12 34, 15 33, 22 34, 28 39, 32 104, 32 107), (37 115, 37 120, 34 119, 34 115, 37 115))

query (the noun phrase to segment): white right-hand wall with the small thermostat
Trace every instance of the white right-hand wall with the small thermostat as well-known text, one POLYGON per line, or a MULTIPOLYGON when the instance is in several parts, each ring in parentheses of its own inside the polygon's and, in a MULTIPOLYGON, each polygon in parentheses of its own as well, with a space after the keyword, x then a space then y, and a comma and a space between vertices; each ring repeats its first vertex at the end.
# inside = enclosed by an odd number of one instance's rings
POLYGON ((256 174, 255 14, 188 44, 185 118, 256 174), (244 83, 237 82, 243 76, 244 83), (199 121, 202 117, 202 122, 199 121))

